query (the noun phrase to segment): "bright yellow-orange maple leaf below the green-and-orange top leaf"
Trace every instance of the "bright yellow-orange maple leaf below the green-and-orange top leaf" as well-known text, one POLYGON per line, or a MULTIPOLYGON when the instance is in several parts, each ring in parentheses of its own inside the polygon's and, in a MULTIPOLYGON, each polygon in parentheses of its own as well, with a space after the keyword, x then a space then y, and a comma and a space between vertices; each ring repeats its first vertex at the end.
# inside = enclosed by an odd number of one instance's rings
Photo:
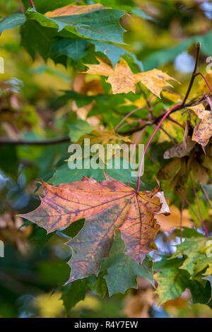
POLYGON ((117 63, 115 69, 112 69, 111 66, 99 58, 98 61, 100 64, 86 64, 88 66, 86 73, 108 76, 107 82, 112 85, 113 93, 129 93, 131 91, 135 93, 136 84, 141 82, 148 90, 151 90, 151 93, 160 98, 160 92, 163 90, 163 87, 167 85, 172 86, 167 81, 176 81, 175 78, 158 69, 144 71, 143 73, 133 73, 123 58, 117 63))

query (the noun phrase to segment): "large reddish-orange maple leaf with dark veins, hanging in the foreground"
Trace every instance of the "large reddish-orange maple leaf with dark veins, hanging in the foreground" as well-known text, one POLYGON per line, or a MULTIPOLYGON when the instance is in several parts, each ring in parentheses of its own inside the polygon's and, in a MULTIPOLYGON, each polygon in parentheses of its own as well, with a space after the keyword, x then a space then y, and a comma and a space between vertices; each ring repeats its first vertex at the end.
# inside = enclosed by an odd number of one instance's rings
POLYGON ((154 249, 160 228, 154 214, 169 214, 163 191, 135 191, 112 177, 96 182, 83 177, 81 181, 52 186, 43 182, 45 197, 40 206, 22 215, 47 232, 68 227, 81 218, 83 229, 67 244, 72 249, 71 278, 73 281, 98 274, 102 258, 108 256, 114 231, 121 230, 125 253, 137 263, 154 249))

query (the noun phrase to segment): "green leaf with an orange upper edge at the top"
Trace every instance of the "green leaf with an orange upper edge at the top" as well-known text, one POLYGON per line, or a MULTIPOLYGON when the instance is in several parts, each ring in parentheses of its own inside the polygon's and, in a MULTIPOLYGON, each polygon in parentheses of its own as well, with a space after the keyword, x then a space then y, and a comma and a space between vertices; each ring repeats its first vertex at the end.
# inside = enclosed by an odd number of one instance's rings
MULTIPOLYGON (((54 11, 49 11, 43 17, 36 16, 40 23, 43 23, 44 18, 57 23, 59 30, 69 25, 66 30, 74 35, 80 34, 91 40, 105 40, 122 44, 124 29, 119 24, 119 18, 124 16, 124 13, 125 11, 107 8, 101 4, 88 6, 69 4, 54 11), (76 30, 70 29, 71 26, 75 26, 76 30)), ((34 15, 34 17, 36 16, 34 15)), ((45 25, 47 26, 49 25, 48 20, 45 19, 45 25)))

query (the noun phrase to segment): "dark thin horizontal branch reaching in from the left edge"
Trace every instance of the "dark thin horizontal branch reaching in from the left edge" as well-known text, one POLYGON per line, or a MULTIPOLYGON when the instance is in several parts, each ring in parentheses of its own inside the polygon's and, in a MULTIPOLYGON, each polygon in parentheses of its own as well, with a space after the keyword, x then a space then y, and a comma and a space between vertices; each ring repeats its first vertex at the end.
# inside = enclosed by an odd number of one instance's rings
POLYGON ((62 137, 62 138, 52 138, 47 140, 12 140, 11 138, 0 138, 0 145, 13 145, 13 146, 46 146, 50 144, 58 144, 70 142, 69 137, 62 137))

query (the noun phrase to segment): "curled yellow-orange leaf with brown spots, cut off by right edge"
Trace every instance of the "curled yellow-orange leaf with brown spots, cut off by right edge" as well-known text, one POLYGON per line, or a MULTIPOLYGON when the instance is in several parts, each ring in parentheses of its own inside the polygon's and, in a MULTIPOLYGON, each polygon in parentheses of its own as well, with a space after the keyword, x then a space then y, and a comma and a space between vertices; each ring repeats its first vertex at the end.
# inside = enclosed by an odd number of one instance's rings
POLYGON ((192 140, 206 146, 212 136, 212 111, 205 109, 204 105, 199 104, 189 107, 199 117, 200 121, 194 127, 192 140))

